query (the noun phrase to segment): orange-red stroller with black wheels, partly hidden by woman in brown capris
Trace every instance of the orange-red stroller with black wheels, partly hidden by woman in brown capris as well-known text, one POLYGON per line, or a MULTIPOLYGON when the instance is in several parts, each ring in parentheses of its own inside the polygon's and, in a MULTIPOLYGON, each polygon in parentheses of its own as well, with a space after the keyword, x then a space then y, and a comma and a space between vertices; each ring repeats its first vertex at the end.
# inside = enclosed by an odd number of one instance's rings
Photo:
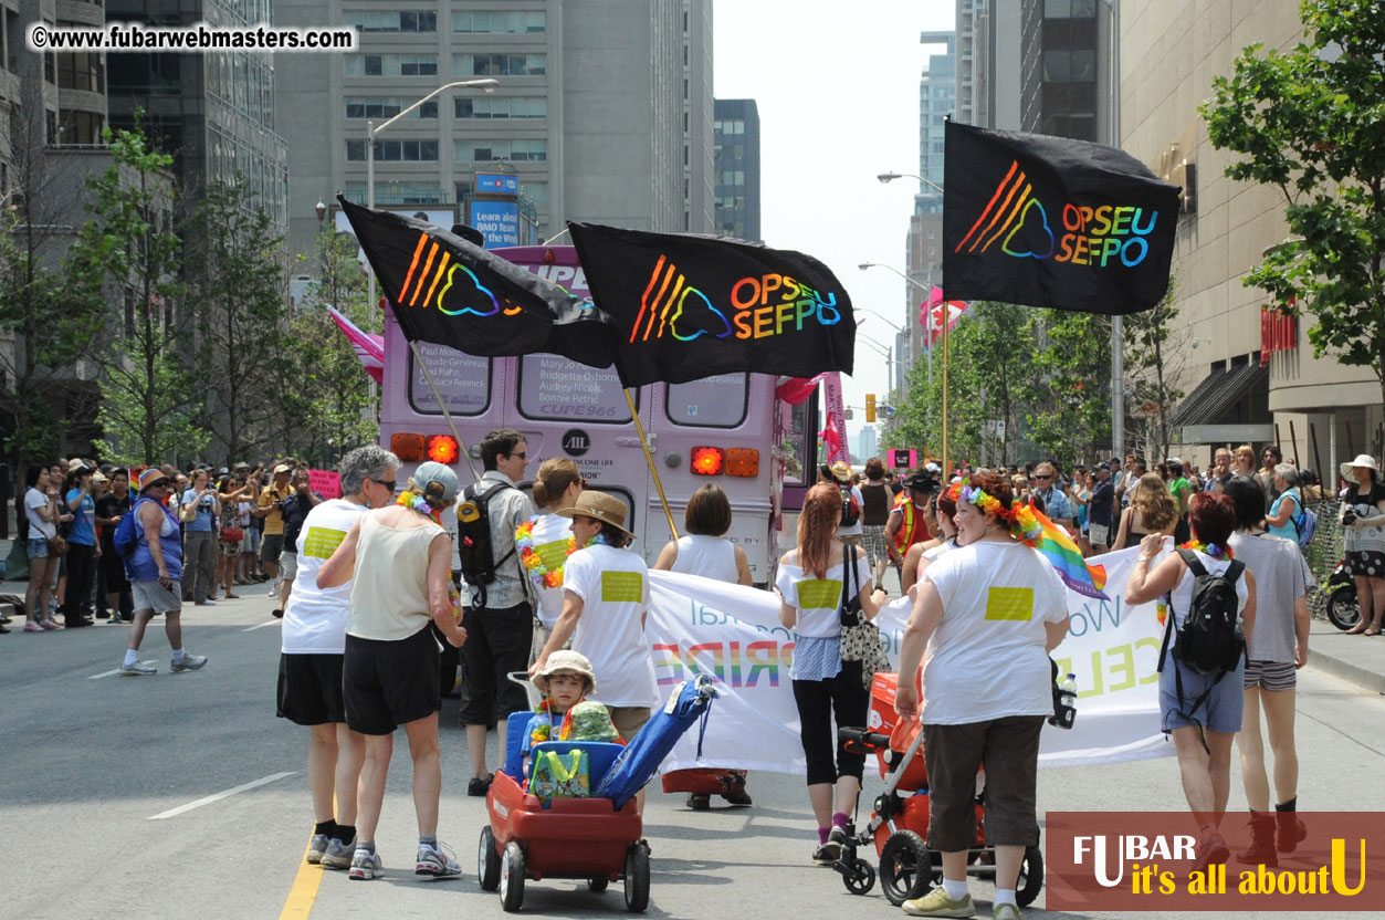
MULTIPOLYGON (((849 750, 875 754, 885 790, 875 798, 870 822, 857 833, 846 826, 846 844, 841 859, 832 865, 842 884, 853 895, 864 895, 874 885, 877 872, 870 860, 857 855, 859 847, 874 844, 879 862, 879 887, 896 908, 920 898, 942 884, 942 856, 928 849, 928 772, 924 768, 922 726, 896 722, 895 689, 897 678, 877 673, 871 684, 870 727, 838 730, 849 750), (871 730, 878 729, 878 730, 871 730)), ((978 777, 978 786, 981 780, 978 777)), ((976 794, 976 841, 967 855, 967 874, 994 878, 996 849, 986 844, 986 794, 976 794)), ((1043 890, 1043 851, 1026 847, 1019 863, 1015 901, 1026 906, 1043 890)))

